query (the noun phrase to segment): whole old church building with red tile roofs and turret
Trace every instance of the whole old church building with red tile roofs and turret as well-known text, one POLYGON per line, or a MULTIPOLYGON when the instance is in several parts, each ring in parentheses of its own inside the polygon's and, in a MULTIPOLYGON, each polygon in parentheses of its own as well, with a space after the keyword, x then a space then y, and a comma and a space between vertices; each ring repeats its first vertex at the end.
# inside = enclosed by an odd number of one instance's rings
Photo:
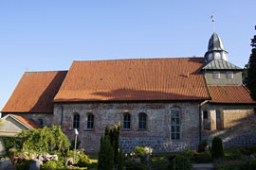
MULTIPOLYGON (((256 101, 213 33, 204 58, 73 61, 68 71, 26 72, 1 110, 79 129, 85 152, 98 152, 104 127, 120 123, 124 152, 196 149, 220 136, 226 146, 256 144, 256 101)), ((1 131, 1 129, 0 129, 1 131)))

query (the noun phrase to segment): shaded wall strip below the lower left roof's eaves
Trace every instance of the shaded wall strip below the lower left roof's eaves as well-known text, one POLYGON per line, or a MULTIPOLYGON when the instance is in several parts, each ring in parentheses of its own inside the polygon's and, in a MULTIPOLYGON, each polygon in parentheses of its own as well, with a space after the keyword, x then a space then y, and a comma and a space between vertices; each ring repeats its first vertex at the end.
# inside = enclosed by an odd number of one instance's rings
POLYGON ((52 125, 52 121, 53 121, 53 114, 52 113, 3 113, 2 117, 8 115, 8 114, 14 114, 14 115, 18 115, 18 116, 22 116, 28 119, 32 119, 33 121, 35 121, 36 123, 39 124, 38 120, 42 119, 43 120, 43 124, 46 127, 49 127, 52 125))

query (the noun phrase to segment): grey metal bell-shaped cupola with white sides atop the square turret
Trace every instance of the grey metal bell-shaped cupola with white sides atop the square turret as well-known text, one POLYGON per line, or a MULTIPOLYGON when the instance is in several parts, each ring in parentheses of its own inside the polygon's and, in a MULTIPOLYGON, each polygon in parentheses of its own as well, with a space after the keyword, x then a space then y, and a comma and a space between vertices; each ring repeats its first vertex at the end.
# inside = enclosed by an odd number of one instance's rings
POLYGON ((223 42, 215 32, 213 32, 210 37, 205 59, 206 63, 209 63, 212 59, 223 59, 228 61, 228 52, 224 49, 223 42))

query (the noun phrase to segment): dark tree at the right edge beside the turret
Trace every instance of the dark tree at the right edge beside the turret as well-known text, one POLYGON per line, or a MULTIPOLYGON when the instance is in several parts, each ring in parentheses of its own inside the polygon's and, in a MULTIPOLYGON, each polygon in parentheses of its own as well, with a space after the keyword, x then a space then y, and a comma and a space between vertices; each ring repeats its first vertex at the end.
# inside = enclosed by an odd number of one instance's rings
POLYGON ((245 71, 246 85, 250 91, 251 97, 256 99, 256 35, 251 39, 251 54, 247 63, 247 71, 245 71), (247 74, 247 75, 246 75, 247 74))

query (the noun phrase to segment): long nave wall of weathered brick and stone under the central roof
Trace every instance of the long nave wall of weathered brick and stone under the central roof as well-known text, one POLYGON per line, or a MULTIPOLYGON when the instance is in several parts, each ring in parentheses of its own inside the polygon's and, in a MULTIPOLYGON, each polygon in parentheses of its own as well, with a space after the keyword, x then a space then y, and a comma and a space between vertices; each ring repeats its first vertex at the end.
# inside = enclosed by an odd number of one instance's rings
POLYGON ((79 140, 85 152, 98 152, 104 127, 114 127, 120 122, 120 145, 125 152, 137 145, 151 146, 154 152, 180 151, 196 148, 199 143, 199 109, 196 102, 183 103, 88 103, 55 104, 54 124, 62 125, 64 133, 72 141, 74 113, 80 114, 79 140), (181 110, 181 139, 171 140, 171 109, 181 110), (122 127, 125 112, 131 114, 131 129, 122 127), (138 113, 147 114, 147 128, 138 128, 138 113), (94 129, 87 129, 87 115, 94 114, 94 129))

